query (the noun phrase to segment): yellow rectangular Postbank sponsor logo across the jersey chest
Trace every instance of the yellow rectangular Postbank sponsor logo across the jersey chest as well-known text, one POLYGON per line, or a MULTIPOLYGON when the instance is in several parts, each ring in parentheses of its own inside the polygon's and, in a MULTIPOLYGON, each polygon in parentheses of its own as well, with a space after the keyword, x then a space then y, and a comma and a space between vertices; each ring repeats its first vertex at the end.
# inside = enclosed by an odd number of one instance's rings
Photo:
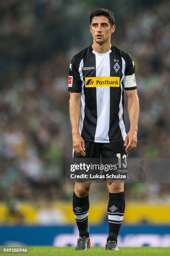
POLYGON ((85 77, 85 87, 120 87, 120 77, 85 77))

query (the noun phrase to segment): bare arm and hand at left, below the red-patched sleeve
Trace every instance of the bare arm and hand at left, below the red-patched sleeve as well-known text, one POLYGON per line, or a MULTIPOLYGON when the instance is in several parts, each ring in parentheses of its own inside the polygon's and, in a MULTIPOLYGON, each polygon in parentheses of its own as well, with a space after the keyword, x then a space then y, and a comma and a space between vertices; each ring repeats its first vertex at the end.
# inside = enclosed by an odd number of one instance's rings
POLYGON ((70 121, 72 127, 72 145, 77 155, 85 156, 85 141, 79 133, 81 116, 80 93, 70 92, 69 101, 70 121))

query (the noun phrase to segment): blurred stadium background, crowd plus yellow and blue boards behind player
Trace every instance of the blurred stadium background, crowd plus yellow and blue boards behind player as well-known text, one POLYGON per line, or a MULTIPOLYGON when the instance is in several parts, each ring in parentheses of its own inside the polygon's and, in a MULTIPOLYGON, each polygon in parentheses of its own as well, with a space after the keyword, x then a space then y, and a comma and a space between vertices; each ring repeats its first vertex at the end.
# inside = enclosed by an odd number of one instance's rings
MULTIPOLYGON (((92 42, 94 8, 115 13, 112 43, 136 65, 140 119, 130 156, 170 157, 169 1, 0 1, 0 245, 62 246, 73 233, 76 242, 73 184, 65 183, 72 152, 67 74, 72 56, 92 42)), ((125 185, 122 246, 170 246, 168 182, 125 185)), ((107 198, 105 184, 92 184, 90 231, 100 245, 107 198)))

